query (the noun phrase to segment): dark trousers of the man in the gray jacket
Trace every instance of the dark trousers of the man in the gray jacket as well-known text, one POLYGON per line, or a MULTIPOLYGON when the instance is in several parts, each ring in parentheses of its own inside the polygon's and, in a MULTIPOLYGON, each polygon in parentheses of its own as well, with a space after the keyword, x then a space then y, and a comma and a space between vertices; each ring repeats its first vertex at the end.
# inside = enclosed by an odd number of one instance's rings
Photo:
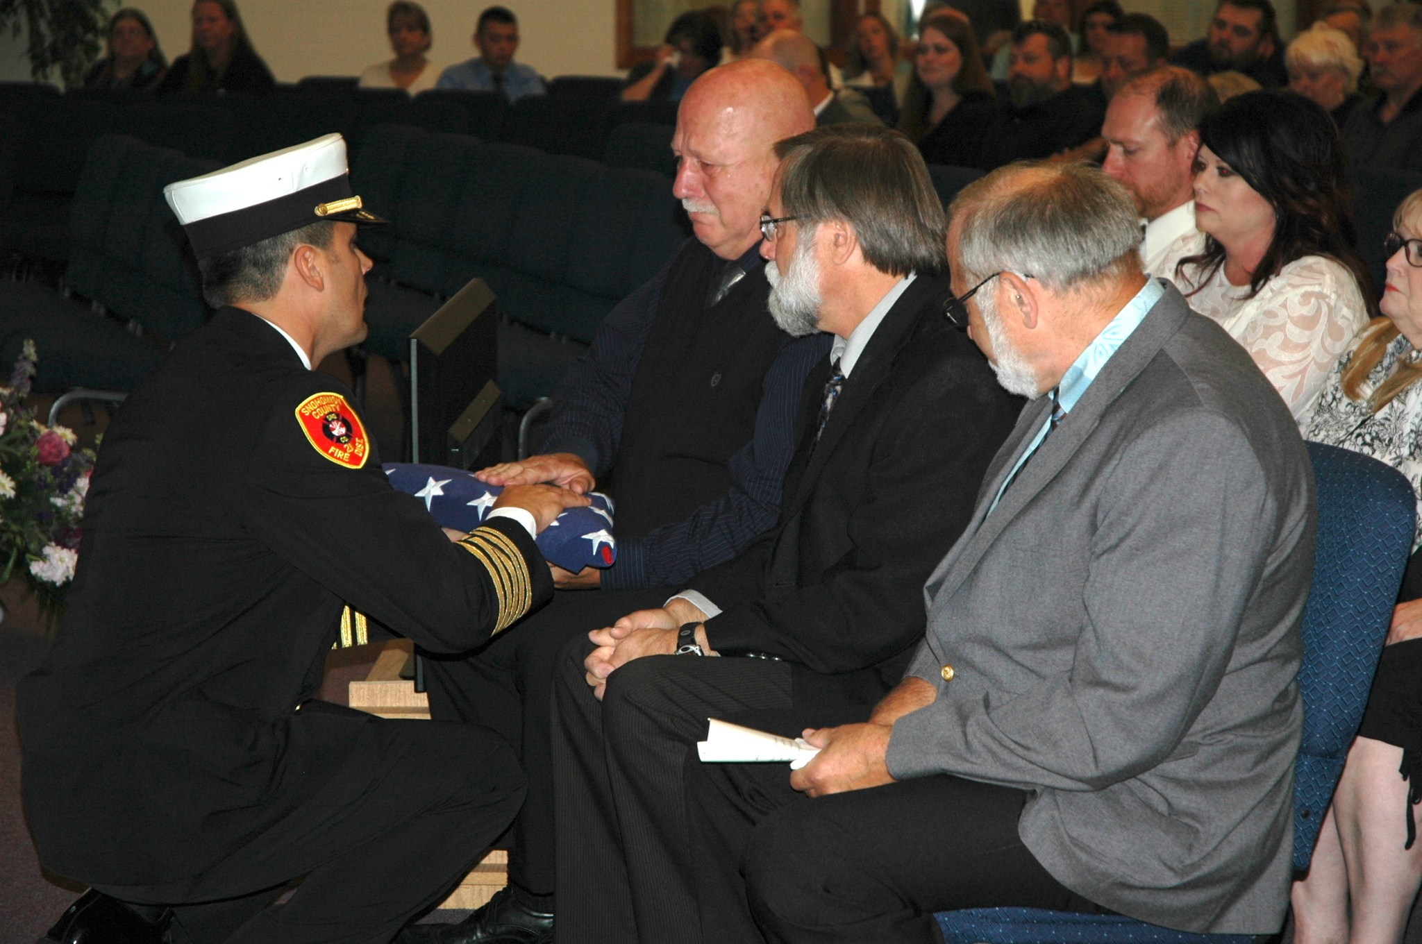
MULTIPOLYGON (((735 721, 784 735, 813 726, 802 712, 735 721)), ((930 943, 943 940, 934 911, 1099 910, 1022 844, 1024 790, 941 775, 809 799, 784 763, 693 758, 685 772, 705 940, 930 943)))

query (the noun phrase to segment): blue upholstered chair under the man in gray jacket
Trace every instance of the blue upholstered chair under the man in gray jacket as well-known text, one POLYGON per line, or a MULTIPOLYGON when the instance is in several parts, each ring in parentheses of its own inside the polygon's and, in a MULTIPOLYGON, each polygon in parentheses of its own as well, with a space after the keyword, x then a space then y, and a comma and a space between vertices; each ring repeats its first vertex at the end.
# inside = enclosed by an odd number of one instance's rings
MULTIPOLYGON (((1318 483, 1314 583, 1304 608, 1304 739, 1294 779, 1294 869, 1308 869, 1342 763, 1362 719, 1402 569, 1415 496, 1395 469, 1308 444, 1318 483)), ((1126 917, 1041 908, 941 911, 947 944, 1246 944, 1243 934, 1189 934, 1126 917)))

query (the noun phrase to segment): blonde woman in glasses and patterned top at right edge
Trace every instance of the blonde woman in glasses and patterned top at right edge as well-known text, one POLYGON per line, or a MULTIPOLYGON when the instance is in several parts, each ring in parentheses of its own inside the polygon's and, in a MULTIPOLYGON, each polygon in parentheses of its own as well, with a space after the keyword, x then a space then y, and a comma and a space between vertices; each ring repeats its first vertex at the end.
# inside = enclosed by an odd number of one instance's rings
MULTIPOLYGON (((1422 496, 1422 191, 1388 236, 1374 318, 1328 378, 1304 435, 1386 462, 1422 496)), ((1422 499, 1419 499, 1422 506, 1422 499)), ((1422 512, 1422 508, 1419 508, 1422 512)), ((1401 941, 1422 883, 1422 513, 1358 739, 1324 817, 1308 877, 1294 886, 1295 940, 1401 941)))

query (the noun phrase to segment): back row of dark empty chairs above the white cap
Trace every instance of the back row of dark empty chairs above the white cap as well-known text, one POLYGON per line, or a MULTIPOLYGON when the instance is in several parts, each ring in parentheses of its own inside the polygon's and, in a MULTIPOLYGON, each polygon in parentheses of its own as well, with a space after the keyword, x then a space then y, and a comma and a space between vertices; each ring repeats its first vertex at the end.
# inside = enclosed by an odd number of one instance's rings
POLYGON ((574 95, 509 107, 486 92, 400 90, 344 92, 290 88, 263 98, 122 92, 55 94, 33 82, 0 84, 0 112, 11 117, 13 198, 0 220, 0 253, 61 266, 68 254, 68 200, 88 145, 122 134, 189 156, 232 163, 338 131, 358 152, 365 132, 387 122, 509 141, 550 154, 606 159, 671 173, 671 122, 664 102, 621 104, 574 95))

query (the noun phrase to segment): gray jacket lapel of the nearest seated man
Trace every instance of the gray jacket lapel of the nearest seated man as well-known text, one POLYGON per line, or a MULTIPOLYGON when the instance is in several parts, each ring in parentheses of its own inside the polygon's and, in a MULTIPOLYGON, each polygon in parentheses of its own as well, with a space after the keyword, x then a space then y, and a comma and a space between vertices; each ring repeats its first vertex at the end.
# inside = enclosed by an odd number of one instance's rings
POLYGON ((1014 517, 1047 488, 1057 473, 1061 472, 1071 458, 1081 449, 1101 422, 1106 408, 1119 397, 1130 382, 1146 368, 1160 345, 1180 330, 1189 306, 1180 293, 1173 287, 1146 314, 1146 318, 1116 350, 1096 380, 1068 414, 1066 419, 1042 442, 1037 455, 1024 468, 1018 481, 1003 495, 1003 500, 988 515, 998 489, 1007 473, 1017 465, 1017 458, 1031 442, 1032 435, 1045 422, 1047 411, 1051 409, 1048 397, 1038 397, 1022 411, 1017 428, 1008 442, 998 451, 997 458, 988 472, 988 486, 978 493, 977 508, 973 512, 973 522, 963 532, 963 537, 948 550, 943 562, 929 576, 924 594, 929 603, 934 599, 946 600, 963 583, 964 579, 983 559, 998 535, 1012 522, 1014 517), (1011 449, 1011 452, 1008 452, 1011 449), (1005 456, 1005 458, 1004 458, 1005 456))

